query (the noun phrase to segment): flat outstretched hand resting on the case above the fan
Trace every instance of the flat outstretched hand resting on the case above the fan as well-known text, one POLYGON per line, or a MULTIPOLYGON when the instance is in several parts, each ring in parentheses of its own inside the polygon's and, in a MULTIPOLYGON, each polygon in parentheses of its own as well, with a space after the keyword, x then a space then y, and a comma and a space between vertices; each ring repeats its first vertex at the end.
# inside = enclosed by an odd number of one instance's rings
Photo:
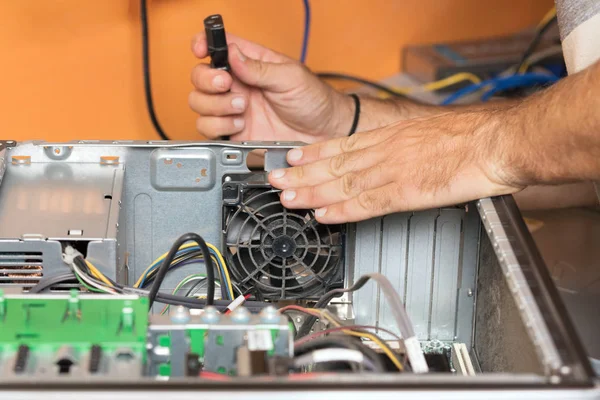
POLYGON ((272 171, 288 208, 321 223, 429 209, 523 188, 504 161, 509 135, 493 113, 446 113, 291 150, 272 171), (502 132, 505 133, 505 132, 502 132))

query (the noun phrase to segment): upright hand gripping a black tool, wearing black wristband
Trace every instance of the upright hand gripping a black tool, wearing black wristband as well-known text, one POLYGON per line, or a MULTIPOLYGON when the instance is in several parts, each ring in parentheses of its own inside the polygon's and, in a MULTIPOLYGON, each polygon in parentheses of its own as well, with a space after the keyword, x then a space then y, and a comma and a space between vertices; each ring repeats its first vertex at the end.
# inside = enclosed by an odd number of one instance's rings
MULTIPOLYGON (((326 85, 300 62, 228 34, 226 71, 199 64, 189 104, 200 117, 197 130, 210 139, 291 140, 314 143, 345 136, 352 99, 326 85), (231 90, 231 91, 229 91, 231 90)), ((208 56, 206 35, 192 41, 198 58, 208 56)))

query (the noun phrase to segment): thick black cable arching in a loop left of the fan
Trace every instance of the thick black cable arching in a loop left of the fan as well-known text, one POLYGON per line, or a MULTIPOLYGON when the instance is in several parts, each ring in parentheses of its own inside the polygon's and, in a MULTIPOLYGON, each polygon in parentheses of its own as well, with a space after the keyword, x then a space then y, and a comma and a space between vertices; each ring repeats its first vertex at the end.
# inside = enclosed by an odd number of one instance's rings
POLYGON ((154 304, 154 300, 156 300, 156 295, 158 290, 160 289, 160 285, 162 285, 165 276, 167 276, 167 272, 169 271, 169 267, 175 258, 176 253, 179 251, 179 248, 186 242, 193 241, 198 244, 200 250, 202 250, 202 256, 204 257, 204 266, 206 267, 206 279, 208 279, 208 286, 206 289, 206 304, 212 305, 215 301, 215 270, 212 263, 212 258, 210 257, 210 252, 208 251, 208 247, 206 246, 206 242, 200 235, 195 233, 186 233, 182 235, 179 239, 173 243, 171 250, 167 254, 167 257, 163 260, 162 264, 158 267, 156 279, 152 288, 150 289, 150 294, 148 295, 149 300, 149 308, 152 309, 152 305, 154 304))

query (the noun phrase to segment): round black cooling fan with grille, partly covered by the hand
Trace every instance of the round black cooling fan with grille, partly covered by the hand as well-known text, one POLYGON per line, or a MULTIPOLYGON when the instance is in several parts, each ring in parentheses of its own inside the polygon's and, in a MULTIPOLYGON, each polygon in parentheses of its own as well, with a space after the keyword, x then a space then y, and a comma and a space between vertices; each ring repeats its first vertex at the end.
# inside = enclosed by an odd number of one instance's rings
POLYGON ((270 300, 309 298, 343 281, 342 226, 283 207, 271 186, 223 186, 225 253, 233 280, 270 300))

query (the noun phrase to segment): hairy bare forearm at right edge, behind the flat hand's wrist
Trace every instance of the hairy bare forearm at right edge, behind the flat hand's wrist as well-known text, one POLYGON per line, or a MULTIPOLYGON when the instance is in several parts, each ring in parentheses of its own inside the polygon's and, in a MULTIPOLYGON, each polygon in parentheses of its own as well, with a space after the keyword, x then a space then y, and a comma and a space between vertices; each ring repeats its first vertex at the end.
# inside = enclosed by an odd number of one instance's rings
POLYGON ((600 179, 600 63, 496 113, 491 143, 519 185, 600 179))

